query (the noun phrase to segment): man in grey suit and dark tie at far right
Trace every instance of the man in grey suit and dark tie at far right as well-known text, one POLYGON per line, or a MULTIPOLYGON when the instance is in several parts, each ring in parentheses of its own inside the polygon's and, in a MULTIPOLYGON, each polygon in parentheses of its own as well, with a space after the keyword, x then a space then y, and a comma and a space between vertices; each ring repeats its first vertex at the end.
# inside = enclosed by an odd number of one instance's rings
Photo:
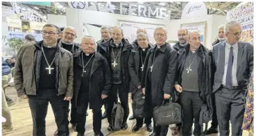
POLYGON ((225 41, 213 47, 214 85, 216 113, 221 136, 242 135, 245 95, 253 70, 253 46, 239 41, 241 24, 238 21, 225 23, 225 41))

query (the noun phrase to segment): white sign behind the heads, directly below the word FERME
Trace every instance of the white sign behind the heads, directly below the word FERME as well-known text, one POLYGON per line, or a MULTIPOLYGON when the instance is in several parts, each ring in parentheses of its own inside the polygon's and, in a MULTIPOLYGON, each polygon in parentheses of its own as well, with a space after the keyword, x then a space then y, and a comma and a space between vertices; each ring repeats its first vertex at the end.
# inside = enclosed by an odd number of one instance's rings
POLYGON ((136 34, 137 28, 145 28, 148 34, 149 42, 155 44, 155 39, 154 39, 155 28, 159 26, 164 26, 164 25, 119 20, 119 26, 123 29, 123 37, 125 39, 128 39, 130 43, 133 43, 133 41, 137 39, 137 34, 136 34))

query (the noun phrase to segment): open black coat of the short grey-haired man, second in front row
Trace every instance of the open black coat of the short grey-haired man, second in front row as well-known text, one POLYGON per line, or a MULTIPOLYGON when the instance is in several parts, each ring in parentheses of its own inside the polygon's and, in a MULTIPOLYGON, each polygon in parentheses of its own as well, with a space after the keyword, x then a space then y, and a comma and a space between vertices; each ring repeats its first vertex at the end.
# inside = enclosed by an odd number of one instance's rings
MULTIPOLYGON (((76 106, 82 79, 81 75, 83 72, 81 54, 82 51, 76 52, 76 54, 74 54, 74 99, 76 106)), ((98 52, 95 52, 95 56, 92 61, 92 68, 90 71, 89 104, 90 106, 93 106, 95 102, 98 102, 93 101, 94 98, 101 97, 102 94, 108 95, 111 88, 111 75, 108 61, 98 52)))

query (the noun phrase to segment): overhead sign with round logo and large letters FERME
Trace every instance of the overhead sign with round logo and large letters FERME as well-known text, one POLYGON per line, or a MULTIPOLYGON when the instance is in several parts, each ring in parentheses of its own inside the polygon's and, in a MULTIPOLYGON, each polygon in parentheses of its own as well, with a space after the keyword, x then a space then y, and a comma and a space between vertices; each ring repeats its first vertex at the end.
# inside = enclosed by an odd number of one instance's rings
POLYGON ((148 17, 155 19, 170 19, 171 10, 162 7, 154 7, 138 5, 137 3, 119 3, 119 7, 114 7, 110 1, 105 3, 105 6, 90 5, 87 1, 71 1, 68 2, 70 8, 95 10, 101 12, 114 13, 114 9, 119 10, 119 14, 126 14, 131 16, 148 17))

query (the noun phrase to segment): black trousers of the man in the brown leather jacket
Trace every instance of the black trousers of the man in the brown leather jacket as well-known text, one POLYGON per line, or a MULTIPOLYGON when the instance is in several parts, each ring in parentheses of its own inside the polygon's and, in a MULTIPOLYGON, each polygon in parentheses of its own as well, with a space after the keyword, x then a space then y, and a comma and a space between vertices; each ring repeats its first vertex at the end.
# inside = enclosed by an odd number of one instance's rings
POLYGON ((45 136, 45 117, 49 102, 53 109, 58 136, 69 135, 67 101, 65 95, 56 95, 56 90, 38 90, 37 95, 28 95, 28 104, 33 119, 33 136, 45 136))

